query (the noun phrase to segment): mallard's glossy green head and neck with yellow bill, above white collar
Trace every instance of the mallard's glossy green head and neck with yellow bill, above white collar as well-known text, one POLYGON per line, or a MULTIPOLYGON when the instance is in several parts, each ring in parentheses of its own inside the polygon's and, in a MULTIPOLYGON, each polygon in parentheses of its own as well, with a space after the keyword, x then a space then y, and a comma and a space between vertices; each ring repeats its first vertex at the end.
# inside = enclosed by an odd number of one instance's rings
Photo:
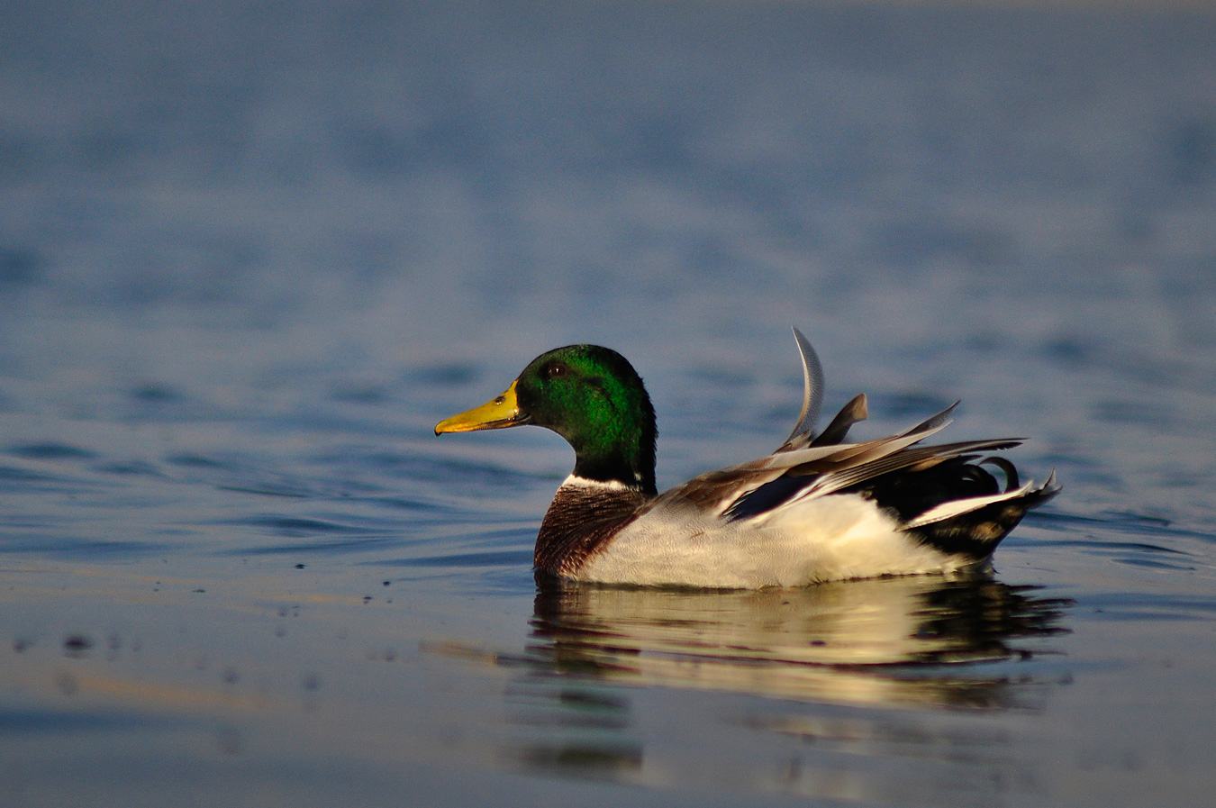
POLYGON ((565 438, 576 477, 655 494, 654 408, 637 371, 615 350, 567 346, 541 354, 502 395, 441 421, 435 434, 524 423, 565 438))

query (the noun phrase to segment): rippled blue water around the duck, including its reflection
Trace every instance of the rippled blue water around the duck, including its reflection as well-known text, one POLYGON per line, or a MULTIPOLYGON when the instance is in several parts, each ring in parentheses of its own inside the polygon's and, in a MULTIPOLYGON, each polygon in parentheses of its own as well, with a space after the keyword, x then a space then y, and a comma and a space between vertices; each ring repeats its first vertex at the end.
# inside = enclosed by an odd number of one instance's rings
POLYGON ((0 11, 0 804, 1205 806, 1216 19, 0 11), (660 488, 956 398, 991 578, 537 589, 618 348, 660 488))

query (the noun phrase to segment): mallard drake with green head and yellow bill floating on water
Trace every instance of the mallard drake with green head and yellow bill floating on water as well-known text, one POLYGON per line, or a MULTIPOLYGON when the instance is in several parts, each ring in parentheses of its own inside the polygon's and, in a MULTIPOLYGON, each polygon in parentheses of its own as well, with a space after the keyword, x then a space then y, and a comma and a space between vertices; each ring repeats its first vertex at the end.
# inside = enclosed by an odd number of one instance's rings
POLYGON ((435 434, 545 427, 574 449, 536 535, 537 580, 765 589, 889 576, 991 571, 1001 540, 1058 494, 989 455, 1026 438, 923 444, 958 402, 896 434, 849 442, 868 416, 856 395, 817 432, 823 367, 794 329, 803 406, 776 451, 655 488, 658 430, 641 376, 610 348, 572 344, 533 359, 499 397, 435 434), (998 476, 1003 478, 998 479, 998 476))

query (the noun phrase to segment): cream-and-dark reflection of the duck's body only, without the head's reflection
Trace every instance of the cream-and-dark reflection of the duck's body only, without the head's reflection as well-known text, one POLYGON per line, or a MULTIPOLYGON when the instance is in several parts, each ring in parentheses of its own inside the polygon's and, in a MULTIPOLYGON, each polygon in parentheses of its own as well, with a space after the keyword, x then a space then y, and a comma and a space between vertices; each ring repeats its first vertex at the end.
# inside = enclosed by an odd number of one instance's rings
POLYGON ((838 703, 1003 707, 1020 692, 1008 666, 957 663, 1029 660, 1035 638, 1066 630, 1066 605, 984 576, 731 593, 554 582, 536 596, 528 667, 838 703))

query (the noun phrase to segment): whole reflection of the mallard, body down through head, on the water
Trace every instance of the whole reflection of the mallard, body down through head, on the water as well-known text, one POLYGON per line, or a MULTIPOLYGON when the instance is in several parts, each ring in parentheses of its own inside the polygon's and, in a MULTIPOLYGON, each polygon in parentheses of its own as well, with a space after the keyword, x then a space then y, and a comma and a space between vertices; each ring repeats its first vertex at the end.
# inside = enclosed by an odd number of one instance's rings
POLYGON ((934 708, 1040 707, 1066 681, 1037 660, 1066 606, 985 576, 736 591, 548 580, 523 653, 424 647, 512 672, 491 744, 527 771, 648 785, 683 771, 902 804, 925 779, 984 782, 1006 765, 1003 733, 934 708), (889 765, 908 756, 913 769, 889 765))

